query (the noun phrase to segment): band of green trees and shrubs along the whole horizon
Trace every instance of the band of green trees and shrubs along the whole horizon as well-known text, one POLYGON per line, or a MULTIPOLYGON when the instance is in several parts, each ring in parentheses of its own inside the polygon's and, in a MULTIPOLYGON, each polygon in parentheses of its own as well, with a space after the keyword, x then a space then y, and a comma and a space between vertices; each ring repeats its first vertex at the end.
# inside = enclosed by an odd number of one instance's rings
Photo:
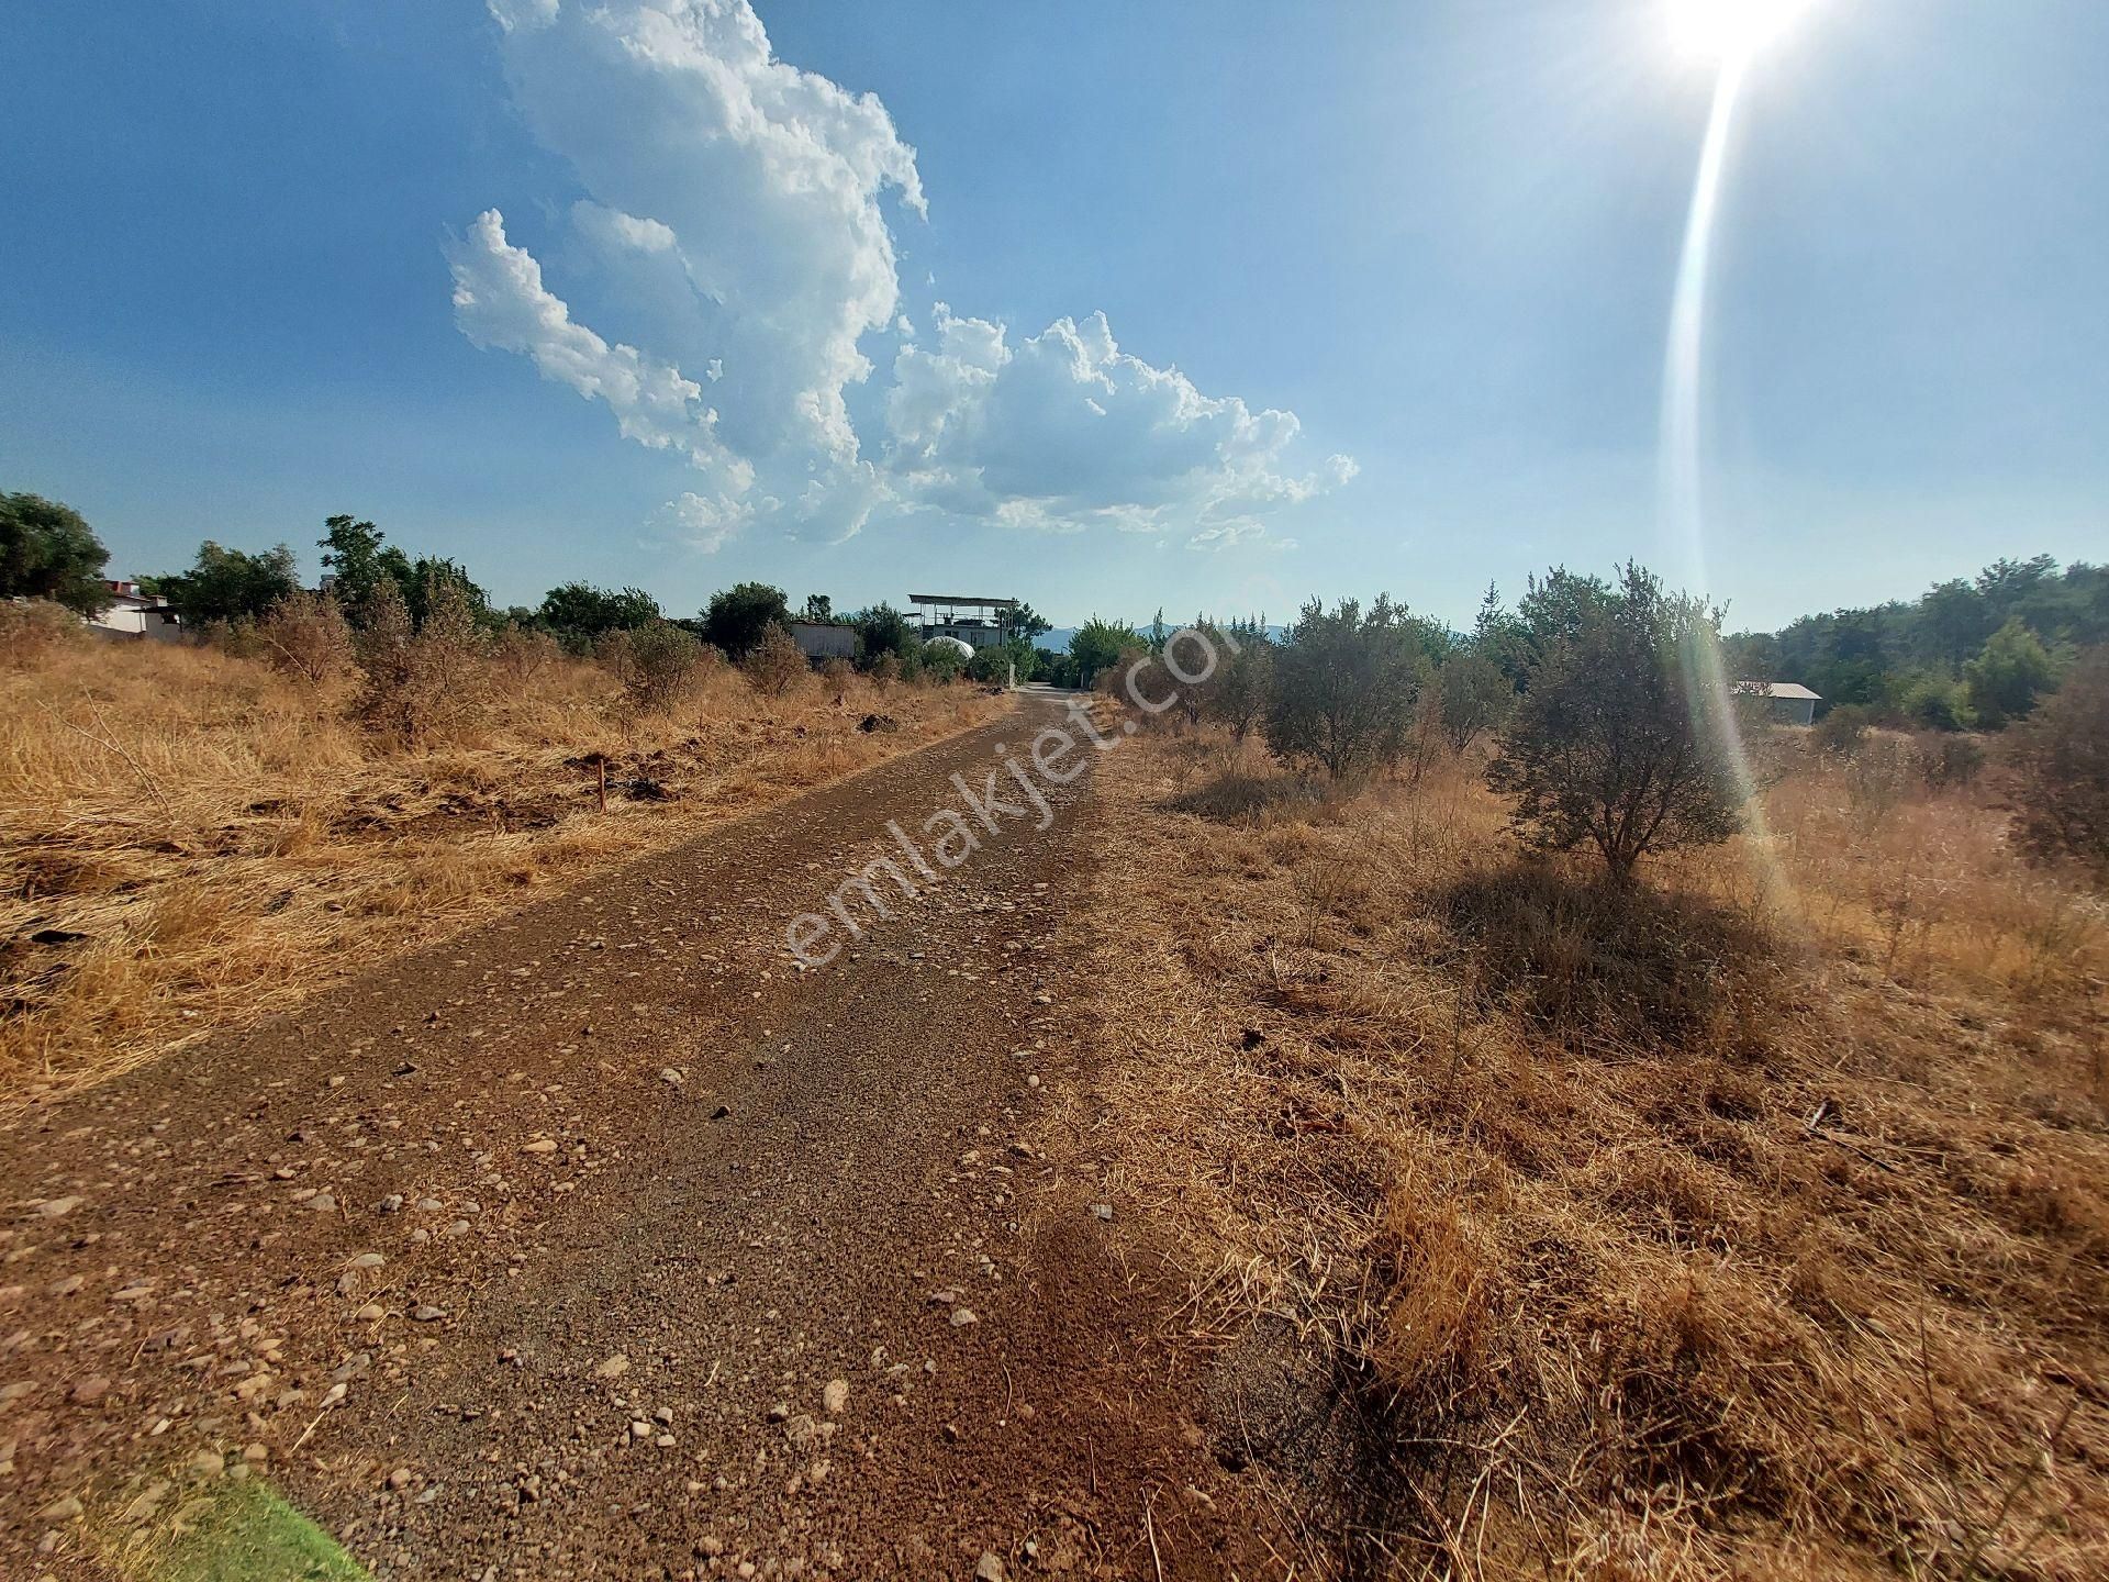
MULTIPOLYGON (((411 740, 462 707, 456 679, 494 643, 515 656, 536 643, 591 656, 639 707, 666 707, 719 658, 774 694, 808 669, 789 635, 789 597, 766 582, 723 589, 685 620, 666 618, 641 589, 584 582, 550 589, 536 607, 498 610, 462 565, 411 557, 371 521, 329 517, 321 548, 321 591, 299 584, 285 544, 247 553, 211 540, 190 570, 141 584, 200 635, 268 650, 310 679, 356 662, 361 713, 411 740)), ((0 599, 93 614, 110 603, 105 561, 72 508, 0 494, 0 599)), ((1021 605, 1006 641, 968 658, 926 643, 886 603, 837 616, 827 595, 810 595, 795 618, 850 629, 856 667, 882 683, 962 673, 1111 683, 1149 717, 1215 719, 1240 742, 1257 730, 1284 764, 1331 780, 1400 766, 1417 778, 1436 753, 1491 738, 1485 776, 1510 797, 1518 831, 1546 850, 1594 846, 1618 880, 1645 852, 1738 827, 1750 785, 1727 742, 1763 713, 1721 681, 1805 679, 1816 692, 1833 688, 1824 740, 1839 749, 1869 721, 1928 732, 2020 726, 2004 755, 2031 787, 2016 842, 2109 871, 2109 570, 2086 563, 1999 561, 1915 605, 1734 637, 1721 633, 1721 607, 1664 589, 1637 563, 1613 580, 1552 567, 1527 580, 1514 607, 1489 586, 1470 633, 1377 595, 1369 605, 1312 599, 1280 637, 1263 616, 1179 631, 1162 612, 1147 631, 1095 616, 1065 652, 1048 652, 1033 643, 1048 622, 1021 605), (1183 643, 1215 662, 1183 656, 1183 643), (1200 681, 1187 679, 1202 669, 1200 681), (1936 692, 1938 709, 1928 702, 1936 692), (1162 698, 1162 709, 1145 698, 1162 698), (1727 711, 1744 717, 1721 719, 1727 711)))

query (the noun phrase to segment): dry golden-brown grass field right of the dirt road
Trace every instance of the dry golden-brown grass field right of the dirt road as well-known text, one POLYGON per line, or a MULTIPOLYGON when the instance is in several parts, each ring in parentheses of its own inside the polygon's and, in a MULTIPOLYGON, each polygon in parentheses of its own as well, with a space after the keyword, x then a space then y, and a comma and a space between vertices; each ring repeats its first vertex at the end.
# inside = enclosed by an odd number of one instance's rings
POLYGON ((1310 1567, 2103 1574, 2109 918, 1985 793, 1788 753, 1639 896, 1470 766, 1103 793, 1109 1192, 1310 1567))

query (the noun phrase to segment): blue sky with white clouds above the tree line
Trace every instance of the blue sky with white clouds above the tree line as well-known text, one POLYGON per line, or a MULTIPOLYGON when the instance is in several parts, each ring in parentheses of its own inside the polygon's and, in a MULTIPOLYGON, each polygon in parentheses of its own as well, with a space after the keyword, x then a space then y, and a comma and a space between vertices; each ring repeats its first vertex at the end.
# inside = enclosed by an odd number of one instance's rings
MULTIPOLYGON (((500 11, 0 13, 0 487, 118 574, 205 536, 312 570, 350 510, 500 601, 673 612, 757 576, 1462 622, 1675 563, 1710 84, 1662 0, 500 11)), ((1734 624, 2109 555, 2105 80, 2096 0, 1816 0, 1755 65, 1708 327, 1734 624)))

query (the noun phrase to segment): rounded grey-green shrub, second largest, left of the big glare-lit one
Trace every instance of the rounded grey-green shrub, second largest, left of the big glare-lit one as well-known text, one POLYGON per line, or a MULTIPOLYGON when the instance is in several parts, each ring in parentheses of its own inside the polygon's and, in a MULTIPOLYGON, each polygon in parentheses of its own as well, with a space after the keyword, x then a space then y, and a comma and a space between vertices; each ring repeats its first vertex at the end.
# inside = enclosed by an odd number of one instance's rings
POLYGON ((1331 614, 1312 599, 1274 656, 1268 745, 1284 764, 1316 764, 1335 780, 1396 761, 1426 664, 1386 595, 1367 614, 1354 599, 1331 614))

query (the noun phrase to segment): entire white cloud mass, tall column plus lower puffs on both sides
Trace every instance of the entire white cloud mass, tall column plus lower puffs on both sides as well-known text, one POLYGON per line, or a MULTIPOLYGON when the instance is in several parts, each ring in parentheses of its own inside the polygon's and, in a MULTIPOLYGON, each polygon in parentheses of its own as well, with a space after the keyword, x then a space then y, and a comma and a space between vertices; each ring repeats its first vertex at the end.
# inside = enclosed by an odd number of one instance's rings
POLYGON ((776 59, 749 0, 489 6, 527 127, 586 194, 569 207, 586 247, 559 257, 593 272, 593 316, 652 350, 576 323, 496 211, 449 247, 456 323, 711 475, 660 510, 666 538, 945 513, 1225 546, 1354 477, 1343 456, 1293 460, 1293 413, 1120 350, 1103 314, 1019 340, 939 302, 920 340, 888 226, 888 205, 926 211, 915 150, 875 95, 776 59), (858 435, 848 392, 875 335, 890 382, 858 435))

